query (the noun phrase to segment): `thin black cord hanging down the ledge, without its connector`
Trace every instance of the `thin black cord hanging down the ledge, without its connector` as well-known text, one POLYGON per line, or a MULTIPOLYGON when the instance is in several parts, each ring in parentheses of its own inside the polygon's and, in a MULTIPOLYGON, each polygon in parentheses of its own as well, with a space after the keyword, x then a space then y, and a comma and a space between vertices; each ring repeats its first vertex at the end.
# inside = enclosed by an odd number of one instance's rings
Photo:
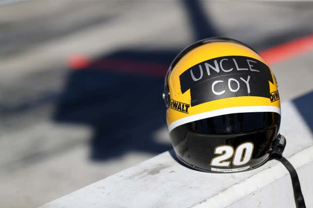
POLYGON ((298 178, 298 175, 297 175, 295 168, 283 156, 276 156, 276 157, 274 157, 274 159, 280 161, 287 168, 287 170, 290 173, 292 187, 294 189, 294 197, 295 197, 296 207, 297 208, 306 208, 305 203, 304 203, 304 198, 303 198, 303 195, 301 192, 300 181, 299 181, 299 178, 298 178))

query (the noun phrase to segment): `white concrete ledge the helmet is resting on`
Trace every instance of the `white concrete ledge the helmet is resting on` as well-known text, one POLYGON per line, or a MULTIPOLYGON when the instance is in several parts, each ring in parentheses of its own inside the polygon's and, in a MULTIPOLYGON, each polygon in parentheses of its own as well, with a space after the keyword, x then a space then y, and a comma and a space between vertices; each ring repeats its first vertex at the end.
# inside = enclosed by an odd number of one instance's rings
MULTIPOLYGON (((307 207, 313 207, 312 133, 292 103, 282 112, 284 156, 297 169, 307 207)), ((289 173, 277 161, 243 173, 213 174, 189 169, 173 154, 164 152, 42 208, 295 207, 289 173)))

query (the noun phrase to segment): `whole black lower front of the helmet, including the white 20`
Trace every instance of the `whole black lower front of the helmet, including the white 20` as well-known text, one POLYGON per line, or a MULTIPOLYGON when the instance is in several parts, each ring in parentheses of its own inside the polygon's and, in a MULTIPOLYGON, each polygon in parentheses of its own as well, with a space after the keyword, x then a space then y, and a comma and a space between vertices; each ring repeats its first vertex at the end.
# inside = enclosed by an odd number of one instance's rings
POLYGON ((170 132, 178 158, 207 172, 237 172, 264 164, 280 126, 273 112, 235 113, 201 119, 170 132))

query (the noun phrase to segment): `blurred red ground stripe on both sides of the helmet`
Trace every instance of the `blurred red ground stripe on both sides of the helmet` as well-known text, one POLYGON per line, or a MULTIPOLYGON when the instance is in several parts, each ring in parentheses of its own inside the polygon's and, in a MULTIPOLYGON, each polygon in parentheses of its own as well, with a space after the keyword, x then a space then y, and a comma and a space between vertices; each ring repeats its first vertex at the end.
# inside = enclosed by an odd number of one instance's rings
MULTIPOLYGON (((286 59, 291 59, 313 49, 313 34, 266 49, 260 52, 267 64, 272 65, 286 59)), ((95 69, 122 74, 141 74, 164 77, 168 65, 152 62, 100 59, 94 62, 84 55, 74 55, 68 59, 68 66, 72 69, 95 69)))

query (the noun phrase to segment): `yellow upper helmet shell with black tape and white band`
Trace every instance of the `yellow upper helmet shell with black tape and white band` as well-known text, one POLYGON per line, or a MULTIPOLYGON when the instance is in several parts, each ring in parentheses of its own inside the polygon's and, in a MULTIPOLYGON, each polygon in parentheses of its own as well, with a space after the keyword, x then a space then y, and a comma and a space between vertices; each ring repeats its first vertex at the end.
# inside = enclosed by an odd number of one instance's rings
POLYGON ((231 113, 280 114, 275 76, 257 52, 225 38, 197 43, 174 60, 165 78, 169 132, 191 121, 231 113))

